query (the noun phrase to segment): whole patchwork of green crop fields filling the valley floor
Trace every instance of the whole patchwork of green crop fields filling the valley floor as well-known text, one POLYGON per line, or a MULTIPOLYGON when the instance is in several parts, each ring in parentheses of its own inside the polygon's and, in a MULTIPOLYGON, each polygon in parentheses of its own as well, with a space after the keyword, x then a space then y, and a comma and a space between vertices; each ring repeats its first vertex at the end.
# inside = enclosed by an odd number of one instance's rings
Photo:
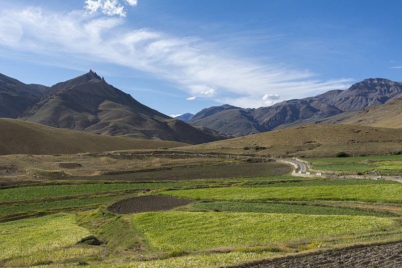
MULTIPOLYGON (((400 159, 309 160, 395 170, 400 159)), ((0 266, 210 267, 402 239, 401 184, 291 170, 217 162, 16 184, 0 190, 0 266), (89 235, 98 242, 78 243, 89 235)))

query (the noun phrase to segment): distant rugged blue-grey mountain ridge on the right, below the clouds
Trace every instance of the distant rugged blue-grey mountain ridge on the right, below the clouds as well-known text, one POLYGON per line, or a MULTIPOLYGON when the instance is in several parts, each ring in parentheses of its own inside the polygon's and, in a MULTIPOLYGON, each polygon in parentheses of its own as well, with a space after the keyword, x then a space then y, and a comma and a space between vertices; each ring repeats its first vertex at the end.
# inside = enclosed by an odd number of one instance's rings
POLYGON ((401 97, 401 82, 383 78, 365 79, 344 91, 329 91, 316 97, 284 101, 258 109, 215 106, 198 112, 188 123, 239 137, 303 125, 328 117, 332 117, 332 122, 337 122, 338 115, 339 121, 345 120, 348 115, 354 115, 349 112, 360 111, 401 97))

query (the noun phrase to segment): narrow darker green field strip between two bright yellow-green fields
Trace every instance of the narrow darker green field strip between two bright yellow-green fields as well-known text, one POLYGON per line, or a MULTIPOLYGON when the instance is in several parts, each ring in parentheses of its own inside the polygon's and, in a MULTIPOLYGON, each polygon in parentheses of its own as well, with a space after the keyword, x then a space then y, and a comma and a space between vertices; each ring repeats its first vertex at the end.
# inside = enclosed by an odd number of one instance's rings
POLYGON ((370 212, 350 208, 335 208, 329 206, 292 205, 265 202, 201 202, 192 205, 198 209, 230 211, 230 212, 258 212, 258 213, 286 213, 305 215, 350 215, 395 217, 390 212, 370 212))

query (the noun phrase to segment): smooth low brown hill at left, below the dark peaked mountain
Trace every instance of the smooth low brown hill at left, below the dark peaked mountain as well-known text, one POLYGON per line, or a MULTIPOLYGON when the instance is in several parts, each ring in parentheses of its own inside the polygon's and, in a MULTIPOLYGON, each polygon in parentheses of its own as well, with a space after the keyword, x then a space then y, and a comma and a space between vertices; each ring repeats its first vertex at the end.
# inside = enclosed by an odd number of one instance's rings
POLYGON ((75 154, 185 145, 173 141, 95 135, 8 118, 0 118, 0 129, 0 155, 75 154))

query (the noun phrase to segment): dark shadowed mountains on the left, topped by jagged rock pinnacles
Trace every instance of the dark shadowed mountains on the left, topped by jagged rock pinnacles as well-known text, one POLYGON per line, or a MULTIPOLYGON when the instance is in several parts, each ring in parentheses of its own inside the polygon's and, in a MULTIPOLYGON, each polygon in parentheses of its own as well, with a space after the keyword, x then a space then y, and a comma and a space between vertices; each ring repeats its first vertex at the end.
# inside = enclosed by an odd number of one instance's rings
POLYGON ((19 119, 29 122, 93 134, 189 144, 231 137, 206 127, 188 125, 142 105, 92 70, 50 88, 7 78, 2 93, 15 98, 13 103, 18 105, 15 112, 3 113, 2 117, 20 116, 19 119))

